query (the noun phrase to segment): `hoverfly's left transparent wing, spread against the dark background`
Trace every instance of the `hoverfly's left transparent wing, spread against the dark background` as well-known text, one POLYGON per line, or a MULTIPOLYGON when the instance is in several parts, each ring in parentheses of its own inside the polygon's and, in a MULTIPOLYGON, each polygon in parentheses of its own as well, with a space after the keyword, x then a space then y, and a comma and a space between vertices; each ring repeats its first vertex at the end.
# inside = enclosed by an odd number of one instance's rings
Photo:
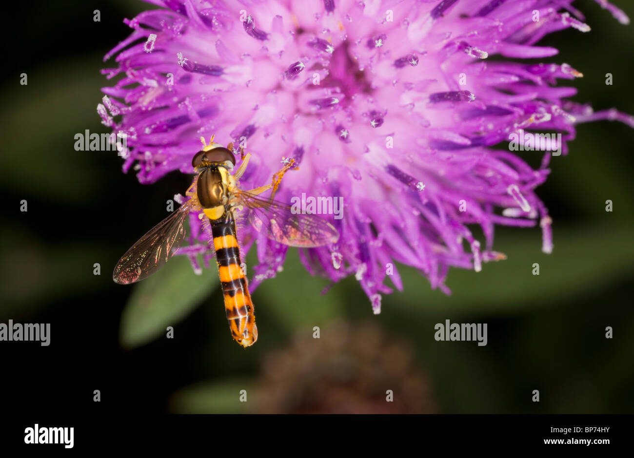
POLYGON ((115 283, 143 280, 165 265, 174 255, 174 248, 183 241, 183 222, 191 210, 190 202, 186 201, 176 212, 152 227, 126 251, 112 273, 115 283))

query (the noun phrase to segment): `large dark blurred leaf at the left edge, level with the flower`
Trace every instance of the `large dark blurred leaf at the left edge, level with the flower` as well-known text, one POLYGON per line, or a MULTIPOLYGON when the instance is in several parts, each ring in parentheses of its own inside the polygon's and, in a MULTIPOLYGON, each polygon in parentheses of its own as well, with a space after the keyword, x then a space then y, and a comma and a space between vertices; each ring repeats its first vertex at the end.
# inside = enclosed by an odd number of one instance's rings
POLYGON ((94 156, 109 155, 120 162, 117 152, 74 148, 75 134, 84 134, 86 129, 98 134, 112 131, 100 124, 96 112, 103 97, 100 87, 107 84, 96 71, 101 64, 98 54, 78 56, 30 72, 25 86, 15 79, 0 88, 4 103, 11 106, 10 111, 0 113, 0 134, 7 152, 0 168, 4 188, 65 203, 85 203, 103 189, 105 180, 94 167, 94 156), (69 80, 69 73, 60 68, 72 69, 72 75, 79 77, 69 80), (43 148, 51 151, 51 160, 37 156, 43 148))

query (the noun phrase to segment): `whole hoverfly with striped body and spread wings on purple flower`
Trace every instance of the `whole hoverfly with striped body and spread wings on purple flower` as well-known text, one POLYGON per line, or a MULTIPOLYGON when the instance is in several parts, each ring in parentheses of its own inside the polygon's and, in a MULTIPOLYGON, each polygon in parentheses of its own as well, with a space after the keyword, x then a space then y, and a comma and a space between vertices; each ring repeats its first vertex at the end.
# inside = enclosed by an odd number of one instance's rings
POLYGON ((245 191, 238 180, 249 163, 250 153, 240 148, 242 163, 232 175, 236 159, 233 144, 225 148, 209 144, 200 137, 203 148, 193 156, 191 165, 197 172, 176 212, 162 220, 126 251, 112 274, 115 283, 128 284, 145 279, 159 270, 184 239, 183 223, 190 212, 206 224, 209 221, 216 250, 216 264, 223 288, 224 308, 231 335, 242 347, 257 340, 254 305, 249 294, 247 278, 240 268, 240 247, 236 237, 236 218, 247 210, 249 223, 275 241, 288 246, 313 248, 335 243, 339 232, 328 222, 311 215, 295 214, 291 207, 273 200, 285 172, 294 164, 290 160, 273 175, 271 184, 245 191), (258 194, 271 189, 269 198, 258 194))

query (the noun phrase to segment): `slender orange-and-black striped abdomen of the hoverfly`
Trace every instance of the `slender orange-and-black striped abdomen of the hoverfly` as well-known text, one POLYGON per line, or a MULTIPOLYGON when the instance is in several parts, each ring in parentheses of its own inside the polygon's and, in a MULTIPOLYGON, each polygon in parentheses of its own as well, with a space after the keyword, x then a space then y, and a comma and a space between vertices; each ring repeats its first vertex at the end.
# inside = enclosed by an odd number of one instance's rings
POLYGON ((242 347, 249 347, 257 340, 256 317, 247 277, 240 267, 235 223, 212 223, 211 231, 231 335, 242 347))

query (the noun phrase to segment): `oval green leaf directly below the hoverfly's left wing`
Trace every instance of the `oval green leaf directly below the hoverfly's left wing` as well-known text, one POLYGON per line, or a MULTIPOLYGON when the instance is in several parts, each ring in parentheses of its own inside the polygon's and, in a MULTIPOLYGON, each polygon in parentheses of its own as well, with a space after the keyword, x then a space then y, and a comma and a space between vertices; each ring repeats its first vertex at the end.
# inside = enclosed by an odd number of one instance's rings
POLYGON ((121 316, 121 345, 138 347, 165 333, 210 295, 217 277, 213 268, 196 275, 188 258, 172 258, 135 286, 121 316))

